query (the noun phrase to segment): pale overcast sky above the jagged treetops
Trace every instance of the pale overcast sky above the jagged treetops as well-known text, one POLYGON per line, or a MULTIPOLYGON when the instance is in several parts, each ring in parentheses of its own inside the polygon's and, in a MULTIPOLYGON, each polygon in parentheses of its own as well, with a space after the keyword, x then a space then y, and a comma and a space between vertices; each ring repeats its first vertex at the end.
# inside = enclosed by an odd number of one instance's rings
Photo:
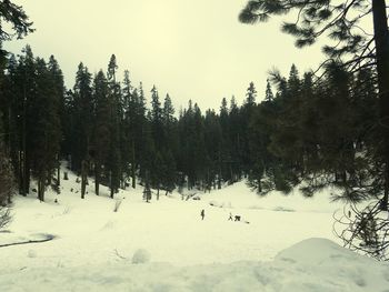
POLYGON ((246 0, 14 0, 23 6, 37 31, 4 48, 19 53, 29 43, 36 56, 54 54, 68 88, 78 63, 92 73, 107 71, 112 53, 119 70, 130 70, 133 84, 148 92, 156 84, 169 92, 177 110, 189 99, 205 111, 219 109, 232 94, 239 104, 250 81, 263 98, 267 72, 288 74, 322 59, 320 48, 299 50, 281 33, 278 21, 239 23, 246 0))

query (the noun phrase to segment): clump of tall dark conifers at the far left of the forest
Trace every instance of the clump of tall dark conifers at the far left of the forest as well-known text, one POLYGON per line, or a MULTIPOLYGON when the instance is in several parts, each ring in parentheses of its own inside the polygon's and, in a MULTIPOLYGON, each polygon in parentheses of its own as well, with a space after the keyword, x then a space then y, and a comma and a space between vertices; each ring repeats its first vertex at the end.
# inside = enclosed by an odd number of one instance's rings
POLYGON ((49 63, 34 58, 30 47, 16 60, 10 56, 4 82, 3 120, 19 192, 29 193, 31 175, 37 180, 38 198, 52 184, 58 169, 61 142, 60 104, 63 80, 53 57, 49 63), (42 107, 44 104, 44 107, 42 107))

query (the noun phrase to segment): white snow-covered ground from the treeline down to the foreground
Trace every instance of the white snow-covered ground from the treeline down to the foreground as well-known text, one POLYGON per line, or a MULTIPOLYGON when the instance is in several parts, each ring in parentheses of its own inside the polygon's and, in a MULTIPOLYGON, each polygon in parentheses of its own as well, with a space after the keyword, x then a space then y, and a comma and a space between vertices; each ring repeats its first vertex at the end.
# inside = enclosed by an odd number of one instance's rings
POLYGON ((84 200, 79 190, 70 174, 44 203, 14 198, 0 245, 53 240, 0 248, 0 291, 389 292, 387 263, 337 244, 341 205, 329 191, 259 198, 240 182, 200 200, 174 192, 144 203, 141 187, 114 200, 106 188, 94 195, 91 180, 84 200))

